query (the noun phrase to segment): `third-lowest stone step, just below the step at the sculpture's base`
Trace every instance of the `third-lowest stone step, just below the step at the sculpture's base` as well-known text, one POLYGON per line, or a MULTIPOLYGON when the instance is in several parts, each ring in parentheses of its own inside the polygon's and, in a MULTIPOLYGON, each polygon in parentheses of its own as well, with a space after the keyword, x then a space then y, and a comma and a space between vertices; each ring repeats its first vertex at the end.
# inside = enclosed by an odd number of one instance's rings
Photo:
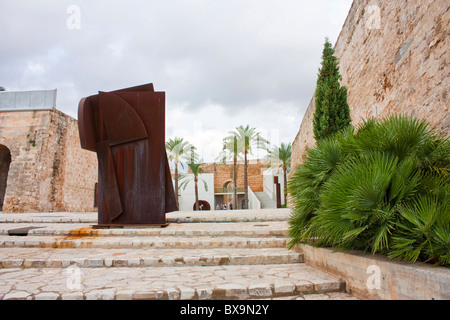
POLYGON ((277 237, 85 237, 0 236, 0 248, 104 248, 104 249, 210 249, 285 248, 286 238, 277 237))

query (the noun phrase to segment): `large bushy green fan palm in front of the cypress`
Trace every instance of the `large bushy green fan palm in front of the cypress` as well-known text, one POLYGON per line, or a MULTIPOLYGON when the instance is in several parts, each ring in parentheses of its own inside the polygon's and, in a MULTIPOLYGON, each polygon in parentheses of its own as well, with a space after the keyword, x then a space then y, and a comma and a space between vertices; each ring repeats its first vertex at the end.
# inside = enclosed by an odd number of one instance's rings
POLYGON ((321 140, 289 183, 289 246, 309 242, 449 264, 449 170, 449 140, 405 116, 321 140))

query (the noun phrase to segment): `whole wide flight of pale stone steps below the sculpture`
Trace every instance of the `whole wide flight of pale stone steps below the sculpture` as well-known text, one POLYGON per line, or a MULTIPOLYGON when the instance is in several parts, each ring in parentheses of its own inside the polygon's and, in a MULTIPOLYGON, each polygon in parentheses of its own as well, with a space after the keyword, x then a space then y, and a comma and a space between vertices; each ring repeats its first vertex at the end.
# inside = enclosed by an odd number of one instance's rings
POLYGON ((288 251, 290 211, 174 212, 92 229, 95 213, 0 214, 0 300, 352 299, 288 251))

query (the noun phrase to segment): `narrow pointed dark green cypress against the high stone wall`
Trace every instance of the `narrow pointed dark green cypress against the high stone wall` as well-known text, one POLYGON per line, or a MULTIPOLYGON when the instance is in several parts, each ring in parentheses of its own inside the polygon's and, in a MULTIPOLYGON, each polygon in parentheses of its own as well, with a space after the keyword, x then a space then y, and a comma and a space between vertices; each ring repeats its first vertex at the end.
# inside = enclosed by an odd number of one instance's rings
POLYGON ((326 138, 346 128, 351 123, 350 108, 347 103, 347 87, 340 85, 339 62, 328 38, 322 54, 315 93, 314 137, 326 138))

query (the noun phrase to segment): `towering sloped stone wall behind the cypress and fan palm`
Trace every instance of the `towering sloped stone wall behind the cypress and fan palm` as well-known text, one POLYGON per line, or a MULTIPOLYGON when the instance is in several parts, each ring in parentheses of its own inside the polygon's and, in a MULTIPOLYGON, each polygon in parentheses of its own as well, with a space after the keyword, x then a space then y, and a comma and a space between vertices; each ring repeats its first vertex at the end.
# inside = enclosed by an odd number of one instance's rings
MULTIPOLYGON (((450 135, 449 9, 447 0, 353 2, 335 44, 353 125, 407 114, 450 135)), ((293 143, 292 168, 315 145, 314 108, 313 99, 293 143)))

